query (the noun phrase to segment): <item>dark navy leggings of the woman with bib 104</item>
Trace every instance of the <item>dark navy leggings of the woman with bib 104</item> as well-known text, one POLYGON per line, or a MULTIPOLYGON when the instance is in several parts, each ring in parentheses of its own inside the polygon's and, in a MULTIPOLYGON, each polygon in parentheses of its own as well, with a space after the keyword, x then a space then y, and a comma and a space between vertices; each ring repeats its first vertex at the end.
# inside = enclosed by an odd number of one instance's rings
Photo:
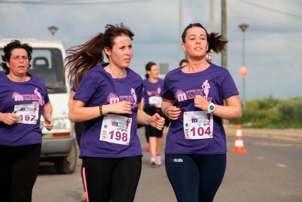
POLYGON ((166 154, 165 169, 178 202, 210 202, 222 182, 226 154, 166 154))

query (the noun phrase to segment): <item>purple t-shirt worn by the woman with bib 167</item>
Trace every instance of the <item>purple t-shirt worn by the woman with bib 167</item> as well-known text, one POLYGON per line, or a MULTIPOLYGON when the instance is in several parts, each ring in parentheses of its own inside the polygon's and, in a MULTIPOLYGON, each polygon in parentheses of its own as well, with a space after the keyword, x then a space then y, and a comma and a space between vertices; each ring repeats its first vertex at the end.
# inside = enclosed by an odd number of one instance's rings
POLYGON ((0 145, 6 146, 21 146, 32 145, 42 142, 42 131, 40 129, 40 117, 45 103, 49 102, 48 93, 45 82, 34 75, 29 81, 14 82, 11 81, 5 74, 0 75, 0 112, 12 113, 15 107, 22 107, 23 110, 31 110, 28 115, 22 115, 23 120, 33 120, 35 124, 15 123, 6 125, 0 122, 0 145), (35 107, 35 105, 39 107, 35 107), (39 113, 37 109, 39 108, 39 113), (33 112, 33 113, 32 113, 33 112), (37 121, 35 122, 35 120, 37 121))

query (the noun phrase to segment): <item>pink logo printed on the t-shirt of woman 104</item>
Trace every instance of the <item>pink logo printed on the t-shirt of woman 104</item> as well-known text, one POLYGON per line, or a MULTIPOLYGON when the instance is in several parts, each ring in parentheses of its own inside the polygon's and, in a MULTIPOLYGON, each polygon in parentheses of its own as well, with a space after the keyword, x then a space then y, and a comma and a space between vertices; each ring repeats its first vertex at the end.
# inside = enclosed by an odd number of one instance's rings
POLYGON ((205 80, 202 84, 201 89, 192 89, 192 90, 187 90, 187 91, 177 90, 175 97, 179 102, 182 102, 185 100, 194 99, 196 95, 200 95, 211 102, 212 98, 208 97, 210 88, 211 88, 210 83, 208 82, 208 80, 205 80))

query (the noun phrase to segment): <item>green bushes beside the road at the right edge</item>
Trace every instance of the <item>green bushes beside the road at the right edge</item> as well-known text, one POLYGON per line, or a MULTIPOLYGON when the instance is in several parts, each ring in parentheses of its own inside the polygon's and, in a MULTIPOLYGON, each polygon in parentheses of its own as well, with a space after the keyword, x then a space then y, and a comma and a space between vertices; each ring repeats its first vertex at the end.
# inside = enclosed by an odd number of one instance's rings
POLYGON ((253 128, 302 128, 302 97, 278 100, 270 96, 247 101, 241 120, 229 123, 253 128))

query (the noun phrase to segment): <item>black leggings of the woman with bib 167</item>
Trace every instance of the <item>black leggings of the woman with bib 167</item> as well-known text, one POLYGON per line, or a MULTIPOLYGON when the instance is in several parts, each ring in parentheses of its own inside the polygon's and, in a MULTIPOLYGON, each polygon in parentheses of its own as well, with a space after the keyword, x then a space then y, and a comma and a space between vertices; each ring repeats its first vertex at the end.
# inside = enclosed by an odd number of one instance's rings
POLYGON ((39 173, 41 144, 0 145, 0 201, 31 201, 39 173))

